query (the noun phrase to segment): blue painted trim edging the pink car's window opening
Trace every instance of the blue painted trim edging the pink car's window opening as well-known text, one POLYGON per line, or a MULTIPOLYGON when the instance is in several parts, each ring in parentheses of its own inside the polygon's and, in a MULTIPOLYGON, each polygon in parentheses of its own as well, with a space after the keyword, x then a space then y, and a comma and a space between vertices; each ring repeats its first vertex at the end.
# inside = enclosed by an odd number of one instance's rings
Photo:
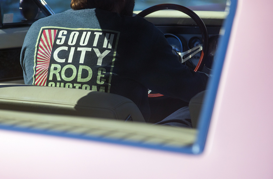
POLYGON ((65 132, 52 132, 52 131, 46 131, 41 129, 30 129, 30 128, 23 128, 23 127, 16 127, 16 126, 8 126, 8 125, 0 125, 0 129, 3 130, 11 130, 11 131, 19 131, 19 132, 28 132, 28 133, 34 133, 34 134, 42 134, 42 135, 51 135, 51 136, 58 136, 58 137, 66 137, 66 138, 76 138, 76 139, 82 139, 82 140, 92 140, 97 142, 108 142, 112 144, 118 144, 118 145, 130 145, 130 146, 136 146, 141 148, 151 148, 151 149, 157 149, 157 150, 164 150, 164 151, 172 151, 172 152, 182 152, 187 154, 200 154, 205 147, 205 142, 207 138, 207 132, 211 120, 211 114, 212 109, 214 106, 215 96, 217 93, 217 88, 221 76, 221 71, 226 55, 227 45, 231 33, 231 26, 233 23, 233 19, 235 16, 237 6, 237 0, 231 0, 231 7, 230 7, 230 13, 227 16, 227 19, 224 23, 225 28, 225 34, 220 39, 219 42, 219 53, 217 57, 217 61, 214 64, 214 73, 213 77, 208 83, 208 93, 205 97, 204 107, 201 111, 200 116, 200 122, 198 125, 198 134, 197 134, 197 141, 192 146, 188 147, 166 147, 162 145, 152 145, 152 144, 141 144, 137 142, 129 142, 129 141, 122 141, 122 140, 115 140, 115 139, 109 139, 109 138, 103 138, 103 137, 92 137, 92 136, 83 136, 83 135, 76 135, 76 134, 69 134, 65 132))

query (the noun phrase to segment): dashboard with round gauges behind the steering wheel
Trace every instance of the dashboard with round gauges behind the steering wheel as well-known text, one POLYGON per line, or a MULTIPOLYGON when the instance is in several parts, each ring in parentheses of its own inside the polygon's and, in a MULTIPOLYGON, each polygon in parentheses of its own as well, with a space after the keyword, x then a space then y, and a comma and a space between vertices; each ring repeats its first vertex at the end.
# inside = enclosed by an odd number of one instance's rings
MULTIPOLYGON (((140 11, 135 11, 138 14, 140 11)), ((211 66, 214 61, 214 56, 217 52, 217 42, 223 33, 221 26, 227 16, 225 11, 194 11, 206 25, 209 40, 208 40, 208 56, 205 67, 202 72, 211 74, 211 66)), ((155 11, 144 17, 147 21, 152 22, 159 28, 173 47, 173 51, 177 53, 186 53, 187 50, 194 49, 194 47, 202 46, 201 30, 195 21, 190 16, 175 10, 161 10, 155 11)), ((202 48, 202 47, 201 47, 202 48)), ((190 69, 194 70, 201 57, 201 50, 193 50, 186 56, 178 55, 180 61, 183 63, 190 56, 189 60, 185 62, 190 69)))

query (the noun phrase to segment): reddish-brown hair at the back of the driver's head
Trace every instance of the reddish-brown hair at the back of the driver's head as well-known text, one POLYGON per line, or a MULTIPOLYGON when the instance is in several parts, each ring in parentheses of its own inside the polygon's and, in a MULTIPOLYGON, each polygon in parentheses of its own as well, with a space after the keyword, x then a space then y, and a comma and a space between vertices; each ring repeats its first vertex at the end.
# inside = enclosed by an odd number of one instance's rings
POLYGON ((71 0, 70 7, 74 10, 99 8, 112 11, 117 0, 71 0))

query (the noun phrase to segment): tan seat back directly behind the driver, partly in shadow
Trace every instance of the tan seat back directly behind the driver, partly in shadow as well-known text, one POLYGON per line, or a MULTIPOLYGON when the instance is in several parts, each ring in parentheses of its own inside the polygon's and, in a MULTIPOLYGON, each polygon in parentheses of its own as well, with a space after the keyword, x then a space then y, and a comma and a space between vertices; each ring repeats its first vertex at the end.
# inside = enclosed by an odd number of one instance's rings
POLYGON ((83 89, 0 84, 0 109, 145 122, 130 99, 83 89))

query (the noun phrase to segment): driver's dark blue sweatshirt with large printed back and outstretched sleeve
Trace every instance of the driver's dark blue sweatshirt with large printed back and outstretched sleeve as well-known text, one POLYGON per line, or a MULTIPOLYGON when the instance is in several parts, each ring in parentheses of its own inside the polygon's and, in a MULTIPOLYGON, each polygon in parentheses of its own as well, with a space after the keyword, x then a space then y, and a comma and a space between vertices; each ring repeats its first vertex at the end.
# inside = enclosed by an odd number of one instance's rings
POLYGON ((146 120, 147 88, 189 101, 207 81, 178 61, 153 24, 97 8, 36 21, 25 37, 21 65, 26 84, 119 94, 136 103, 146 120))

